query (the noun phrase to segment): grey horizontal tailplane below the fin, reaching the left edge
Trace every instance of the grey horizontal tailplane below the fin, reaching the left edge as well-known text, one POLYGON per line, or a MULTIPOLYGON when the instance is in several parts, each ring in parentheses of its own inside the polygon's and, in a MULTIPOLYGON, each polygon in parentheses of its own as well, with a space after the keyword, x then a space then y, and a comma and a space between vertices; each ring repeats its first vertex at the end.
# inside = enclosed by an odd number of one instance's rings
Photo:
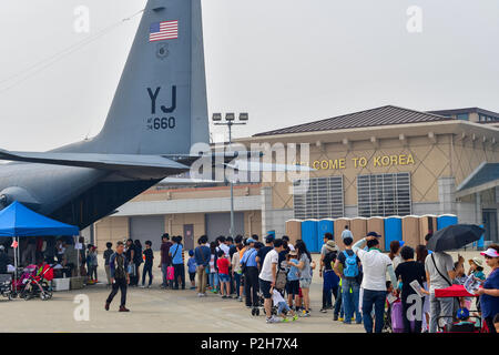
POLYGON ((126 169, 153 169, 170 172, 183 172, 187 165, 162 155, 139 154, 98 154, 98 153, 51 153, 51 152, 10 152, 0 150, 0 160, 54 164, 100 170, 119 171, 126 169))

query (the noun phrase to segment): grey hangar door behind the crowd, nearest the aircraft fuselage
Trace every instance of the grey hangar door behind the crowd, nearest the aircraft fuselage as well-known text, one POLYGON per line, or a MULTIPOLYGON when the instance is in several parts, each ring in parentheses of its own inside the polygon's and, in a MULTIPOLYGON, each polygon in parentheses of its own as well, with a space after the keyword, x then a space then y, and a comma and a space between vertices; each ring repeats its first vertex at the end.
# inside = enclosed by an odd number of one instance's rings
POLYGON ((145 241, 152 242, 152 250, 159 251, 161 246, 161 236, 164 233, 164 215, 143 215, 130 217, 130 237, 139 240, 142 247, 145 247, 145 241))

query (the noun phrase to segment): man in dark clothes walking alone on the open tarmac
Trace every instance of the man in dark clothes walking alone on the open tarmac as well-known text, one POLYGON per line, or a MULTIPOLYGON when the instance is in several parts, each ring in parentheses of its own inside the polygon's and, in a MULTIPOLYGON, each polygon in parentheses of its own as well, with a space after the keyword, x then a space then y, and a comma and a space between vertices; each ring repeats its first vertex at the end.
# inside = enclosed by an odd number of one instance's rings
POLYGON ((109 261, 109 266, 111 271, 111 284, 112 291, 105 301, 105 311, 109 311, 109 306, 111 302, 113 302, 114 296, 118 294, 118 291, 121 292, 121 303, 119 312, 130 312, 126 305, 126 286, 130 283, 129 275, 129 261, 125 257, 123 242, 116 243, 116 252, 111 255, 109 261))

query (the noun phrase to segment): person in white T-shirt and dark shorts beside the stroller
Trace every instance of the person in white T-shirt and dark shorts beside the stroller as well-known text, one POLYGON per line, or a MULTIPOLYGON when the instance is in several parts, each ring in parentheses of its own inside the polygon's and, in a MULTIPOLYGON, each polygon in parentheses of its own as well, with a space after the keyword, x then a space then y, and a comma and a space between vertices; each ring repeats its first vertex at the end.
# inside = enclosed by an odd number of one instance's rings
POLYGON ((269 251, 264 257, 262 264, 262 271, 258 275, 259 290, 265 298, 265 314, 266 323, 277 323, 279 322, 276 317, 272 315, 272 292, 271 290, 275 286, 277 280, 277 264, 279 261, 279 253, 283 251, 283 241, 275 240, 274 248, 269 251))

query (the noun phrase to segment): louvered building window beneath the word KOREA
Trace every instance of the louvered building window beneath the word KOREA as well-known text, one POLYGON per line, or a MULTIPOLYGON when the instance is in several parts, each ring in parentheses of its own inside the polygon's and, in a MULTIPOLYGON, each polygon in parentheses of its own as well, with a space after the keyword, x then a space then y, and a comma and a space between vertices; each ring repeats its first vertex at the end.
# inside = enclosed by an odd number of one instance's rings
POLYGON ((409 215, 410 174, 358 175, 357 199, 359 216, 409 215))

